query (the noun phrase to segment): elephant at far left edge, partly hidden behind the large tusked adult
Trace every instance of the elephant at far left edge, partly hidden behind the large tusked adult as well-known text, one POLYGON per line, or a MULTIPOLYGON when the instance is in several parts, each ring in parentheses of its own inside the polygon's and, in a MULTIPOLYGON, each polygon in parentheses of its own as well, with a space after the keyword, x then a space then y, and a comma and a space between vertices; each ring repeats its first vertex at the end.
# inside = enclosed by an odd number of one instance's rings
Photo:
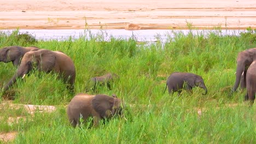
POLYGON ((15 67, 20 65, 22 57, 26 52, 40 50, 36 46, 21 47, 21 46, 8 46, 0 50, 0 62, 8 63, 13 62, 15 67))

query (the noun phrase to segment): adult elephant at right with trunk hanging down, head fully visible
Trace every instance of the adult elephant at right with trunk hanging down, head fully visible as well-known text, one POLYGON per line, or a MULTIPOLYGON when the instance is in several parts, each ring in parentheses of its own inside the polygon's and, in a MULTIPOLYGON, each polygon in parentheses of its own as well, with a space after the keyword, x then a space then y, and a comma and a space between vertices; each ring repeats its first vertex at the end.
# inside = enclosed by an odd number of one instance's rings
POLYGON ((236 91, 237 87, 239 86, 240 80, 242 80, 240 83, 240 87, 246 87, 247 69, 254 60, 256 60, 256 48, 248 49, 238 53, 236 59, 236 81, 234 87, 232 88, 232 92, 236 91))

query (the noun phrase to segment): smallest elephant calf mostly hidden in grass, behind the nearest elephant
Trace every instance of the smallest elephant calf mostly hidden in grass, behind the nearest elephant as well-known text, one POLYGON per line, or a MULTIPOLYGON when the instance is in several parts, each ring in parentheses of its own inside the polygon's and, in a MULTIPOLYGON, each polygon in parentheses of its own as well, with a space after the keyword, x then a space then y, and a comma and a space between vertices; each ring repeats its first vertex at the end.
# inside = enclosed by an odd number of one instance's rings
POLYGON ((119 78, 119 76, 114 73, 108 73, 106 75, 92 77, 90 79, 89 86, 92 89, 92 91, 94 91, 94 92, 96 91, 97 85, 107 85, 107 88, 111 89, 110 83, 118 78, 119 78))

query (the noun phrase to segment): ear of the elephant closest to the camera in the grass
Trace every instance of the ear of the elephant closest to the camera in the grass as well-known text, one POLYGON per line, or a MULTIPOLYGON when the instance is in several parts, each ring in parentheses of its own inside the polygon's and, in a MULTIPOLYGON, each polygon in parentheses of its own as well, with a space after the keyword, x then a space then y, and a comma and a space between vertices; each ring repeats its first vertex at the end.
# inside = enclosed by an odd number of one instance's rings
POLYGON ((107 118, 112 115, 114 98, 108 97, 108 95, 98 94, 92 99, 92 108, 101 116, 101 118, 107 118))

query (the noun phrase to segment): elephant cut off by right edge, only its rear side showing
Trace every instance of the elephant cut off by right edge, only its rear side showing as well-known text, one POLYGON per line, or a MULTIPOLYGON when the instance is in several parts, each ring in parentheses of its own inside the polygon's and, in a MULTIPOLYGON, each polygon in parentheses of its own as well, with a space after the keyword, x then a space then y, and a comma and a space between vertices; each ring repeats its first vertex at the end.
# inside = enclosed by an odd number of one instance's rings
POLYGON ((254 103, 255 92, 256 92, 256 61, 253 61, 252 64, 247 69, 246 73, 246 95, 245 100, 250 100, 251 104, 254 103))

